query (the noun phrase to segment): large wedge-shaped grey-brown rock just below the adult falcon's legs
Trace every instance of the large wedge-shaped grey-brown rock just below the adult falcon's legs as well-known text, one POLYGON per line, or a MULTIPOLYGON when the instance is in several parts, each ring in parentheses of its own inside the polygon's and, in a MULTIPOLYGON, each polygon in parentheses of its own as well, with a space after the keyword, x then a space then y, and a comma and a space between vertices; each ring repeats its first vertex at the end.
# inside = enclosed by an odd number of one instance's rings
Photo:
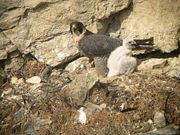
POLYGON ((89 90, 95 85, 97 75, 95 70, 84 70, 81 74, 76 74, 71 83, 65 86, 65 98, 72 105, 83 105, 89 90))

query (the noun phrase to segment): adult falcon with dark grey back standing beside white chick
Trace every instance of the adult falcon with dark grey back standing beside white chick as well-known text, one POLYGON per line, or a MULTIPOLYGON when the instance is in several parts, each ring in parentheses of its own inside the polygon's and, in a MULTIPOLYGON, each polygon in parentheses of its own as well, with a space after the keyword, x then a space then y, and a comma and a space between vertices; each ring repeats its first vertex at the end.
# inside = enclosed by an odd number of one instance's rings
POLYGON ((97 74, 105 77, 108 73, 107 59, 114 49, 122 45, 122 40, 92 33, 78 21, 70 24, 70 32, 80 54, 93 59, 97 74))

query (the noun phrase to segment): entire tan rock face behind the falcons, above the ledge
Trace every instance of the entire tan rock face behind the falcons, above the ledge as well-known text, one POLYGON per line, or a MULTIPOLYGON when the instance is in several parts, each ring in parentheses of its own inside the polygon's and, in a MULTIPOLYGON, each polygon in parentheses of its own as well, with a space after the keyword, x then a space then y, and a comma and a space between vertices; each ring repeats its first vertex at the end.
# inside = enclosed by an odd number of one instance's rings
POLYGON ((1 0, 0 60, 18 48, 56 66, 77 51, 70 19, 115 37, 152 36, 156 46, 171 52, 178 47, 179 7, 177 0, 1 0))

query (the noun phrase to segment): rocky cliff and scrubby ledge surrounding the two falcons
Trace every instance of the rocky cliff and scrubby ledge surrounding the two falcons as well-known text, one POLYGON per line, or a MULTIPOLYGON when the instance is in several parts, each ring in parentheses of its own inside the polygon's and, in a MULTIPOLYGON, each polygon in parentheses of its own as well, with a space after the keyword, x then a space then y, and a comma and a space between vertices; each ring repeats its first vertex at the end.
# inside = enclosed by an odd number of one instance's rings
POLYGON ((176 135, 179 79, 179 0, 0 0, 0 134, 176 135), (154 49, 133 52, 135 73, 99 79, 75 57, 71 20, 154 49))

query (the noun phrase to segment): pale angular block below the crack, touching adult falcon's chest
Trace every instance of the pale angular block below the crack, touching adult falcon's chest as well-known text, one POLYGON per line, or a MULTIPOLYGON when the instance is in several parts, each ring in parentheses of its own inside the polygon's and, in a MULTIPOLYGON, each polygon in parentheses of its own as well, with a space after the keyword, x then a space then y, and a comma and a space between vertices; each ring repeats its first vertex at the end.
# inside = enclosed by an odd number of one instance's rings
POLYGON ((70 35, 55 37, 46 42, 37 42, 31 47, 31 53, 38 61, 42 61, 51 66, 62 63, 64 59, 76 54, 77 48, 72 44, 70 35), (58 44, 54 44, 58 43, 58 44), (52 46, 54 44, 54 46, 52 46), (46 47, 46 49, 45 49, 46 47), (48 53, 47 53, 48 52, 48 53))

